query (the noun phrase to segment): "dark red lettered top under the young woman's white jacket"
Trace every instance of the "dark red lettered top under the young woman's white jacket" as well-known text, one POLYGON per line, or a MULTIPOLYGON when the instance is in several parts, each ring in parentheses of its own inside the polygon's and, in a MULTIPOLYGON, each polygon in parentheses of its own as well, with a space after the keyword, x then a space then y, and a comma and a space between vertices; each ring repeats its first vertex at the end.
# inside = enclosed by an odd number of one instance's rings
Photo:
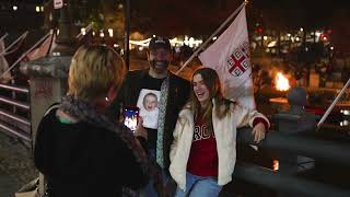
POLYGON ((195 123, 195 134, 187 171, 198 176, 218 176, 218 151, 213 131, 210 134, 202 117, 195 123))

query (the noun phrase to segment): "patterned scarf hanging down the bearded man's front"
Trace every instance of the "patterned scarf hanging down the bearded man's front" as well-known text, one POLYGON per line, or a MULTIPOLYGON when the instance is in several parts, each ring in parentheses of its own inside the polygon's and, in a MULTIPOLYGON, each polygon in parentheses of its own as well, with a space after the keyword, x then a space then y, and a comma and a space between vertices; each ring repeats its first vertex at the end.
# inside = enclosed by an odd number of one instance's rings
POLYGON ((164 158, 163 158, 163 136, 164 136, 164 125, 165 125, 165 114, 166 104, 168 95, 168 81, 167 77, 161 86, 161 99, 160 99, 160 114, 158 120, 158 137, 156 137, 156 163, 164 169, 164 158))

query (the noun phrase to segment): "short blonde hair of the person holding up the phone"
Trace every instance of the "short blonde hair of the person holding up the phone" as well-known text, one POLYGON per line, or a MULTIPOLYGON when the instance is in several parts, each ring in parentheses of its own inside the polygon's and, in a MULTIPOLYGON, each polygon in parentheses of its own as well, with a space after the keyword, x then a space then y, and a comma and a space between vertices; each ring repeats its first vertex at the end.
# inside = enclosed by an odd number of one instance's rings
POLYGON ((81 46, 70 63, 68 94, 89 102, 106 95, 112 86, 118 90, 125 73, 126 65, 114 49, 102 45, 81 46))

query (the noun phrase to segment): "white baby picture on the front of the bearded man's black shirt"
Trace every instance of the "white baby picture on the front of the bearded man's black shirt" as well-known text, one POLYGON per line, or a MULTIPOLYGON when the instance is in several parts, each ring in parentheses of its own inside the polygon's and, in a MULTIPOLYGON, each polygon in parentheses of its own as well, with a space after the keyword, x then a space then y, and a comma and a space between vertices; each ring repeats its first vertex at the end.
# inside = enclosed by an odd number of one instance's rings
POLYGON ((160 91, 142 89, 137 106, 140 108, 140 116, 143 118, 143 127, 158 128, 158 115, 160 102, 160 91))

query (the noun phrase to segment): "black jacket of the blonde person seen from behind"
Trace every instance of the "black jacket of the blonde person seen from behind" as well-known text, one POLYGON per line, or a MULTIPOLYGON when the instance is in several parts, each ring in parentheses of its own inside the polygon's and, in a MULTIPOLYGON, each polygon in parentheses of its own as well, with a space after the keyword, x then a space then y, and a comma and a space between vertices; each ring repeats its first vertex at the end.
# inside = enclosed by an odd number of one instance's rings
POLYGON ((138 189, 148 183, 116 132, 84 121, 62 124, 56 109, 39 124, 34 159, 50 197, 121 196, 121 187, 138 189))

